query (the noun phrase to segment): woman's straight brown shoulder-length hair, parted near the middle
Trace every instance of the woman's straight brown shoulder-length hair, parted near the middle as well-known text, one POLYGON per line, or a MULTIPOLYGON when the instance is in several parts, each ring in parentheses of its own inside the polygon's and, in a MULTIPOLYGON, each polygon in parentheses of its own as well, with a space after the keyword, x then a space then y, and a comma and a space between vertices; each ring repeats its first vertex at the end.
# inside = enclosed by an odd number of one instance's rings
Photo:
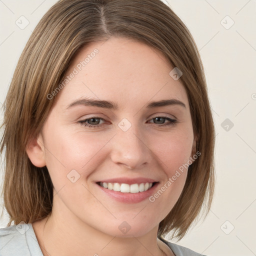
MULTIPOLYGON (((62 0, 32 32, 17 63, 4 102, 1 153, 5 153, 3 198, 14 221, 46 217, 53 186, 46 166, 36 167, 26 154, 51 109, 50 94, 62 81, 79 49, 110 36, 136 39, 160 50, 170 70, 178 67, 190 107, 196 151, 182 193, 159 223, 158 237, 170 231, 181 239, 202 212, 208 213, 214 188, 214 125, 203 66, 195 42, 180 18, 160 0, 62 0)), ((206 216, 205 214, 205 216, 206 216)))

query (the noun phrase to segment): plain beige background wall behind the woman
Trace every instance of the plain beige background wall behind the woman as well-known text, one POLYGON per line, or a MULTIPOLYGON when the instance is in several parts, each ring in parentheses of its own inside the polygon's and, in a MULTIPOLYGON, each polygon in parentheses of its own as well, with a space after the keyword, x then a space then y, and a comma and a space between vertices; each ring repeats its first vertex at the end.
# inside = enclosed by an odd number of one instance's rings
MULTIPOLYGON (((31 31, 54 2, 0 0, 1 103, 31 31), (15 23, 21 15, 29 22, 23 29, 15 23)), ((256 255, 256 0, 165 2, 197 43, 216 127, 213 205, 206 219, 177 243, 212 256, 256 255)), ((2 172, 1 164, 0 184, 2 172)), ((6 216, 0 227, 6 226, 6 216)))

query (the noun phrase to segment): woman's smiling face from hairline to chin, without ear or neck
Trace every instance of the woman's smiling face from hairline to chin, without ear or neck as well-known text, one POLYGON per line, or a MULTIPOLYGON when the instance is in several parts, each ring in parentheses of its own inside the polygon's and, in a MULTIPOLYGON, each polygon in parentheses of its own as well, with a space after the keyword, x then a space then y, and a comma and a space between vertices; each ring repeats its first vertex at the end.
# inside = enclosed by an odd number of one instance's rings
POLYGON ((75 56, 38 139, 61 220, 116 236, 157 230, 182 191, 194 140, 172 69, 127 38, 75 56))

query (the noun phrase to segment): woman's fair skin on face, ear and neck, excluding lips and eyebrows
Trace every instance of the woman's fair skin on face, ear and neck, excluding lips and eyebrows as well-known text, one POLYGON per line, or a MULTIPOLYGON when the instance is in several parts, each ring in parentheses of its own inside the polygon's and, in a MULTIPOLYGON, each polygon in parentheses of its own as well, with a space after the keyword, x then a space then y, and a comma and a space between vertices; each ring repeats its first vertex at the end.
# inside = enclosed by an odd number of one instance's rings
POLYGON ((173 67, 158 50, 121 37, 82 48, 66 75, 95 48, 99 52, 57 94, 41 133, 27 147, 34 165, 47 166, 54 187, 51 215, 33 223, 41 250, 51 256, 174 255, 157 239, 157 228, 177 201, 187 170, 153 202, 148 196, 117 200, 96 182, 150 178, 156 181, 148 190, 153 195, 189 160, 195 140, 186 91, 170 77, 173 67), (85 97, 117 108, 70 106, 85 97), (166 99, 184 105, 147 107, 166 99), (67 177, 71 170, 80 175, 75 182, 67 177), (122 232, 121 223, 130 229, 122 232))

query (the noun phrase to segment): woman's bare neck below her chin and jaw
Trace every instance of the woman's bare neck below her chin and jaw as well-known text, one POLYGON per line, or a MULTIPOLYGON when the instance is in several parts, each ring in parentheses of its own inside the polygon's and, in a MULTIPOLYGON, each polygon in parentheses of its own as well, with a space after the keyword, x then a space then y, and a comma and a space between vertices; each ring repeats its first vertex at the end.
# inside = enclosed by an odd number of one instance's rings
POLYGON ((41 221, 41 227, 39 244, 44 256, 166 255, 166 248, 157 239, 158 227, 139 237, 112 236, 74 218, 64 221, 54 211, 41 221))

